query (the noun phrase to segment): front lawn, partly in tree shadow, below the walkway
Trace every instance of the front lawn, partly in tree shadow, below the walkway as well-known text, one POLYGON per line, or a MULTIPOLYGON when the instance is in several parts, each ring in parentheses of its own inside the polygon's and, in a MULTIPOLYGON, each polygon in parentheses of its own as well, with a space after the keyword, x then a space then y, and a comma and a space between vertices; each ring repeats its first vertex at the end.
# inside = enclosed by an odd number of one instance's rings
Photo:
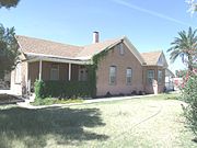
POLYGON ((1 148, 195 148, 175 94, 65 107, 0 106, 1 148))

